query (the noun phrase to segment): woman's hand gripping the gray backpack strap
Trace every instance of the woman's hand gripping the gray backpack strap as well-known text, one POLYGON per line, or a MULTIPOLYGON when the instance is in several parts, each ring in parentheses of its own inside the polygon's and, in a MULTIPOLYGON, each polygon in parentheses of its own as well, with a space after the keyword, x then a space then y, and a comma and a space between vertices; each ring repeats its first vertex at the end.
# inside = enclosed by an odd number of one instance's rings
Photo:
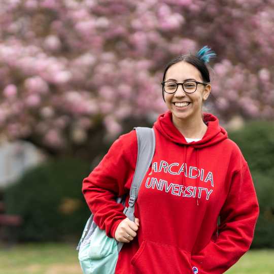
POLYGON ((129 243, 137 235, 135 231, 139 228, 139 219, 135 218, 134 222, 125 218, 116 228, 115 239, 118 242, 129 243), (129 235, 129 236, 128 236, 129 235))

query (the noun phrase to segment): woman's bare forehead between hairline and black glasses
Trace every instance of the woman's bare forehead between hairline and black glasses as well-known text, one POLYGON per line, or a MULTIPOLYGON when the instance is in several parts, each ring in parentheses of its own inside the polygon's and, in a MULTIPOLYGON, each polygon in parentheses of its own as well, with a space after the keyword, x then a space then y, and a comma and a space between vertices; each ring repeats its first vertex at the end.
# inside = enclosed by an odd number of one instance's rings
POLYGON ((185 79, 195 79, 202 81, 199 70, 192 64, 180 61, 170 66, 165 74, 165 81, 167 79, 175 79, 178 82, 185 79))

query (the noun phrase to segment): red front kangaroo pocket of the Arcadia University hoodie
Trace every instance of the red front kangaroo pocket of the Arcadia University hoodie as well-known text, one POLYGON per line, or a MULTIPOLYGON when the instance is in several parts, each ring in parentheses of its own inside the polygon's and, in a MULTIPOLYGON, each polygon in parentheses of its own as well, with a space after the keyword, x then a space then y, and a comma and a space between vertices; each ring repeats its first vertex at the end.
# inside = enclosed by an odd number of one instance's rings
POLYGON ((193 274, 189 252, 147 240, 142 242, 130 263, 134 274, 193 274))

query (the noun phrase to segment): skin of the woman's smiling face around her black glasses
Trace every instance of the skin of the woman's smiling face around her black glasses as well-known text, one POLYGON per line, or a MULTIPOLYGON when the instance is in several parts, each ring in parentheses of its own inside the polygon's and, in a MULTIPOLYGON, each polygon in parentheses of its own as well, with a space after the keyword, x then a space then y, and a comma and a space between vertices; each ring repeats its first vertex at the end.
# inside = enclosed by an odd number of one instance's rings
MULTIPOLYGON (((164 81, 174 81, 183 83, 187 79, 203 82, 199 70, 192 64, 180 61, 168 68, 164 81)), ((175 93, 169 94, 164 92, 164 99, 167 108, 172 112, 173 119, 180 120, 196 120, 201 118, 202 102, 206 100, 210 94, 211 85, 197 85, 197 89, 193 93, 186 93, 182 85, 178 86, 175 93), (183 104, 176 104, 184 102, 183 104), (186 105, 187 102, 187 106, 186 105)))

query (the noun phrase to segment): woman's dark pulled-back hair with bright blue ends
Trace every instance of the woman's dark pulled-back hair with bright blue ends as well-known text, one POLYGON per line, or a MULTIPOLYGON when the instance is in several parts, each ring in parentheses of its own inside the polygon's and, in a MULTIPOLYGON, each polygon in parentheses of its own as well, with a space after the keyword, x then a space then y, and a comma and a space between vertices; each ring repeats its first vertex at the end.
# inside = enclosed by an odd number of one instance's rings
MULTIPOLYGON (((201 74, 202 81, 204 83, 210 83, 210 74, 209 74, 208 67, 205 63, 208 62, 210 58, 215 56, 216 56, 216 53, 214 53, 210 48, 208 48, 208 46, 204 46, 203 48, 201 48, 195 55, 191 53, 180 55, 166 64, 164 68, 163 82, 164 82, 165 74, 168 68, 172 66, 173 64, 176 64, 180 61, 184 61, 194 65, 197 68, 197 70, 201 74)), ((163 95, 163 100, 165 101, 163 89, 162 89, 162 95, 163 95)))

